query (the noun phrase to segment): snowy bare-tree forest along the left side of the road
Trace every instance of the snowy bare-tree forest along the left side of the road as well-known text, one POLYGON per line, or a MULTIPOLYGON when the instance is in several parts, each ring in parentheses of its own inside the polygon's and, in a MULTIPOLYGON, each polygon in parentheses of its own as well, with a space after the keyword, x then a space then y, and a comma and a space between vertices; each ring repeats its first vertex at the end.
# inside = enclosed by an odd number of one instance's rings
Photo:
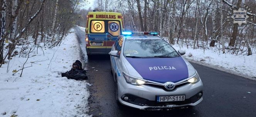
POLYGON ((15 55, 61 44, 84 0, 0 0, 0 67, 15 55), (19 47, 20 51, 17 51, 19 47))

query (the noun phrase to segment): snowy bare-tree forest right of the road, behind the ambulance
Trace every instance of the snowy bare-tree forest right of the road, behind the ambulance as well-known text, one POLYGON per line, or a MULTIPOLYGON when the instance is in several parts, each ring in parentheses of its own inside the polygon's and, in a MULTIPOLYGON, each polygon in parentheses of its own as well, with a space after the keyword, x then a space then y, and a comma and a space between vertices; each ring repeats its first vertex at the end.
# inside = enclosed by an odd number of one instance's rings
POLYGON ((255 0, 96 0, 81 10, 77 24, 85 26, 88 11, 123 14, 126 31, 157 31, 170 44, 222 53, 256 53, 255 0), (246 24, 234 24, 233 10, 247 10, 246 24))

